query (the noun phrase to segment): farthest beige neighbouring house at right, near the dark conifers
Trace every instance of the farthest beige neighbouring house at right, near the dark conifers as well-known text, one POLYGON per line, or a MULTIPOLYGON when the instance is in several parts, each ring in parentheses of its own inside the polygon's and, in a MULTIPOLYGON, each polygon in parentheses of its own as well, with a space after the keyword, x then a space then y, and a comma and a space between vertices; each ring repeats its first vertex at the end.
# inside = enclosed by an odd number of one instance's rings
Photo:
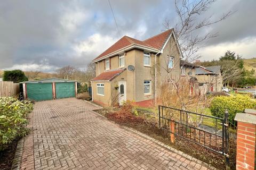
POLYGON ((208 91, 221 91, 221 66, 197 67, 196 78, 203 94, 208 91))

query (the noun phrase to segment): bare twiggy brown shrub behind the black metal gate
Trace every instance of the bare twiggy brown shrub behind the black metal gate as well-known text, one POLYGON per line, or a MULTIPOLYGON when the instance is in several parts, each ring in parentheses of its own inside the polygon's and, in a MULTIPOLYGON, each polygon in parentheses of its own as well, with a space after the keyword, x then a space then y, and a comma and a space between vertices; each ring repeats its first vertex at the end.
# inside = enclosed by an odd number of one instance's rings
MULTIPOLYGON (((201 95, 198 91, 197 83, 189 82, 186 79, 180 79, 175 83, 175 88, 172 83, 165 83, 162 85, 162 94, 159 98, 159 102, 163 106, 169 106, 177 109, 187 110, 199 114, 204 114, 205 109, 210 106, 212 97, 201 95)), ((179 111, 165 111, 165 116, 179 117, 179 111)), ((199 126, 203 122, 202 116, 190 117, 189 123, 199 126)))

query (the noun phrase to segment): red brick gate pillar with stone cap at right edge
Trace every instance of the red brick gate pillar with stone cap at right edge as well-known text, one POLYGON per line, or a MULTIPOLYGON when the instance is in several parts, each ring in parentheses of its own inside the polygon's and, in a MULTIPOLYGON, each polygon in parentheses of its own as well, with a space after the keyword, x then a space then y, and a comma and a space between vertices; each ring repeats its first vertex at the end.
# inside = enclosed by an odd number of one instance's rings
POLYGON ((237 113, 237 150, 236 169, 254 169, 256 111, 245 109, 245 113, 237 113))

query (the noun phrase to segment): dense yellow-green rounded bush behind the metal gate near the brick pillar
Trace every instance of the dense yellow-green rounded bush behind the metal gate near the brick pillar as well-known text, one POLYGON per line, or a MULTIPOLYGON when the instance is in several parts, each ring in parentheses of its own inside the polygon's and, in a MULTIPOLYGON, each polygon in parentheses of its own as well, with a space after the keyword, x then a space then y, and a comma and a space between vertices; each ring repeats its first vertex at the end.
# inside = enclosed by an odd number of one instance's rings
POLYGON ((228 109, 229 120, 233 123, 236 113, 243 113, 246 108, 256 108, 256 100, 247 95, 218 96, 212 100, 210 107, 212 115, 221 118, 228 109))

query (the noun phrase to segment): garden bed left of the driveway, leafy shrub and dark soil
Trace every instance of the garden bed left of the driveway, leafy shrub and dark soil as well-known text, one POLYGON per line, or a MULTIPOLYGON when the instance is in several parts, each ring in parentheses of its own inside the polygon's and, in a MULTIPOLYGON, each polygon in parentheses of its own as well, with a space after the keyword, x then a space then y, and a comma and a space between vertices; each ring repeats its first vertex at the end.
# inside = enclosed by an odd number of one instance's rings
POLYGON ((18 140, 29 132, 28 114, 32 110, 30 101, 0 97, 0 169, 11 169, 18 140))

